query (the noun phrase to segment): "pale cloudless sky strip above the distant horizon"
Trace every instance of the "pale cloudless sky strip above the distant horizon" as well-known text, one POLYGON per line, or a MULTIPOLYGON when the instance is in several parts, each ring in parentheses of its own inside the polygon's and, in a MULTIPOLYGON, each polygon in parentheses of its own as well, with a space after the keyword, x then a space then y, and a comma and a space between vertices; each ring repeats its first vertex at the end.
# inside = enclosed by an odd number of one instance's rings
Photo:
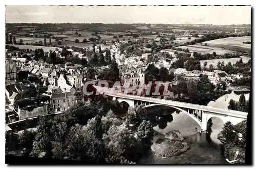
POLYGON ((250 6, 6 6, 6 23, 250 24, 250 6))

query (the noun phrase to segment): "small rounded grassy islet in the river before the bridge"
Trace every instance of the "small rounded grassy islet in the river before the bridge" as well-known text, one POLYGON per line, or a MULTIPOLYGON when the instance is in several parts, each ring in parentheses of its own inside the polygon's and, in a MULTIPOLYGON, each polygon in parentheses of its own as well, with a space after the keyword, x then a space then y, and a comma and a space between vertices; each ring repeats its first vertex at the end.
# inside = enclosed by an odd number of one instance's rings
POLYGON ((151 149, 156 156, 170 158, 187 151, 189 144, 179 130, 170 130, 165 134, 155 131, 151 149))

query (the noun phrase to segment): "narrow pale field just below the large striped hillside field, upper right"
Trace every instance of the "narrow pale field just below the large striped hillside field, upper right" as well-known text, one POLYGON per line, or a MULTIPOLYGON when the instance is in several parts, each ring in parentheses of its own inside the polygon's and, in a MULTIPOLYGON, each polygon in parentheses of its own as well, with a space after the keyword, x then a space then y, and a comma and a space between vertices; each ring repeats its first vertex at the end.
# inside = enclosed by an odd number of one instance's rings
POLYGON ((234 53, 232 50, 224 49, 221 47, 212 47, 212 46, 201 46, 199 44, 195 45, 188 45, 188 46, 179 46, 179 48, 188 49, 191 53, 194 51, 202 54, 216 52, 217 54, 224 54, 224 53, 234 53))

